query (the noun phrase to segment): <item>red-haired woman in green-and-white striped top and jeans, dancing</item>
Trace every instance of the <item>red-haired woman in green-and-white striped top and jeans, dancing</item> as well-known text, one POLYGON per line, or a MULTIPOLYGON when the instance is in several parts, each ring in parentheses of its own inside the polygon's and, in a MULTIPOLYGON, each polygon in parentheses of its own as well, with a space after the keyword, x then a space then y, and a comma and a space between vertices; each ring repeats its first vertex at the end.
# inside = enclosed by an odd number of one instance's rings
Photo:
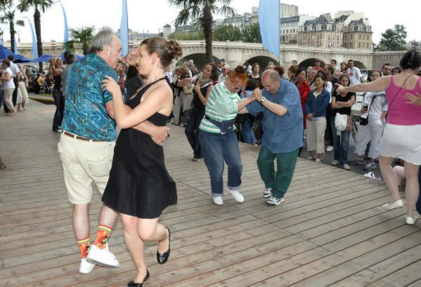
POLYGON ((200 146, 211 179, 213 201, 219 206, 224 203, 224 161, 228 165, 228 192, 236 201, 244 201, 239 192, 242 163, 234 121, 238 110, 255 100, 253 95, 240 100, 238 92, 246 84, 247 71, 242 66, 228 72, 228 78, 212 89, 207 99, 205 117, 199 126, 200 146))

